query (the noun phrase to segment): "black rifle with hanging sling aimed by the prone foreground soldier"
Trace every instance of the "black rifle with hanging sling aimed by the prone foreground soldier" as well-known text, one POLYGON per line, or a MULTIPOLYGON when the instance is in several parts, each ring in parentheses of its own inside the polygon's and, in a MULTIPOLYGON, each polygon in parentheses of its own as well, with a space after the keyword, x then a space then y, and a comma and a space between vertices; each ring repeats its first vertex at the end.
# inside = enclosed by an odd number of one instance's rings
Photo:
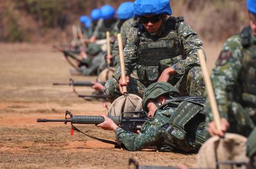
MULTIPOLYGON (((120 128, 123 128, 123 130, 131 131, 131 132, 137 132, 137 130, 140 130, 141 125, 145 123, 145 121, 148 120, 146 114, 144 111, 141 112, 124 112, 122 113, 122 116, 108 116, 113 120, 113 122, 117 125, 119 125, 120 128), (135 116, 135 117, 126 117, 126 116, 135 116)), ((37 122, 64 122, 65 124, 71 123, 71 135, 73 135, 73 131, 79 131, 82 134, 89 136, 90 138, 96 139, 97 141, 105 142, 105 143, 111 143, 118 147, 116 142, 108 141, 101 138, 96 138, 94 136, 85 134, 84 132, 80 131, 76 127, 74 127, 73 124, 99 124, 104 122, 104 118, 102 116, 73 116, 73 114, 69 111, 66 111, 65 113, 65 119, 47 119, 47 118, 38 118, 37 122), (69 115, 69 117, 67 117, 69 115)))

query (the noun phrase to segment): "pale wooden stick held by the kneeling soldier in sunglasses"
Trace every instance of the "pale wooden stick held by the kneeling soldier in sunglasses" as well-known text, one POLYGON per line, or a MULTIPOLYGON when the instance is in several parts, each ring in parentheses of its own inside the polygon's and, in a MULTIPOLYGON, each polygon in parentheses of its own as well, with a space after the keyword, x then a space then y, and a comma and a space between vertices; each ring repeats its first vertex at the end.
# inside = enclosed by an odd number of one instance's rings
MULTIPOLYGON (((122 77, 122 81, 126 82, 125 59, 123 58, 123 43, 122 43, 121 34, 118 34, 118 46, 119 46, 121 77, 122 77)), ((127 87, 126 86, 123 87, 123 92, 127 93, 127 87)))

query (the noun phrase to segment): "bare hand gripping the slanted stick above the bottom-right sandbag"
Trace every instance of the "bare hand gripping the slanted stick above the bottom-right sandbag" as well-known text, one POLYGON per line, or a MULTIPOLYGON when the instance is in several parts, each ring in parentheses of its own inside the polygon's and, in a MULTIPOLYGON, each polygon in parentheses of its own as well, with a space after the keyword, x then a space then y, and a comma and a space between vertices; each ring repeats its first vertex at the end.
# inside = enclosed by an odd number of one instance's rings
POLYGON ((224 134, 229 129, 229 122, 227 122, 226 118, 221 118, 221 132, 217 130, 217 127, 214 123, 214 121, 210 122, 207 127, 207 131, 211 136, 218 135, 223 137, 224 134))

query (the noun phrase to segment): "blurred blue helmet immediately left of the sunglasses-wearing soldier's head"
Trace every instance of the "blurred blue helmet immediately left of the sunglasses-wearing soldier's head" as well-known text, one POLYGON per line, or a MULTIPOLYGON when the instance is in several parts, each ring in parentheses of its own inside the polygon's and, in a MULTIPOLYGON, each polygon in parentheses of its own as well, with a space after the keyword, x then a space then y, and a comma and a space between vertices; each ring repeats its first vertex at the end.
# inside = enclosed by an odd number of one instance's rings
POLYGON ((130 19, 134 16, 133 2, 123 2, 116 11, 118 19, 130 19))

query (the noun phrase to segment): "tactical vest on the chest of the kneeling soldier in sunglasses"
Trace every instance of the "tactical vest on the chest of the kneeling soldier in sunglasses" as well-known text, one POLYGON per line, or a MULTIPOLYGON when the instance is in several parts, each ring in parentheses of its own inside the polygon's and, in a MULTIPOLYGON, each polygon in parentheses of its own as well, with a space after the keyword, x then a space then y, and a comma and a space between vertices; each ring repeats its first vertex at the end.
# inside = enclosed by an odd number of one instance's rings
POLYGON ((164 69, 182 59, 182 42, 177 33, 181 21, 183 17, 169 17, 160 37, 151 36, 145 30, 138 31, 137 74, 144 85, 156 82, 164 69))

